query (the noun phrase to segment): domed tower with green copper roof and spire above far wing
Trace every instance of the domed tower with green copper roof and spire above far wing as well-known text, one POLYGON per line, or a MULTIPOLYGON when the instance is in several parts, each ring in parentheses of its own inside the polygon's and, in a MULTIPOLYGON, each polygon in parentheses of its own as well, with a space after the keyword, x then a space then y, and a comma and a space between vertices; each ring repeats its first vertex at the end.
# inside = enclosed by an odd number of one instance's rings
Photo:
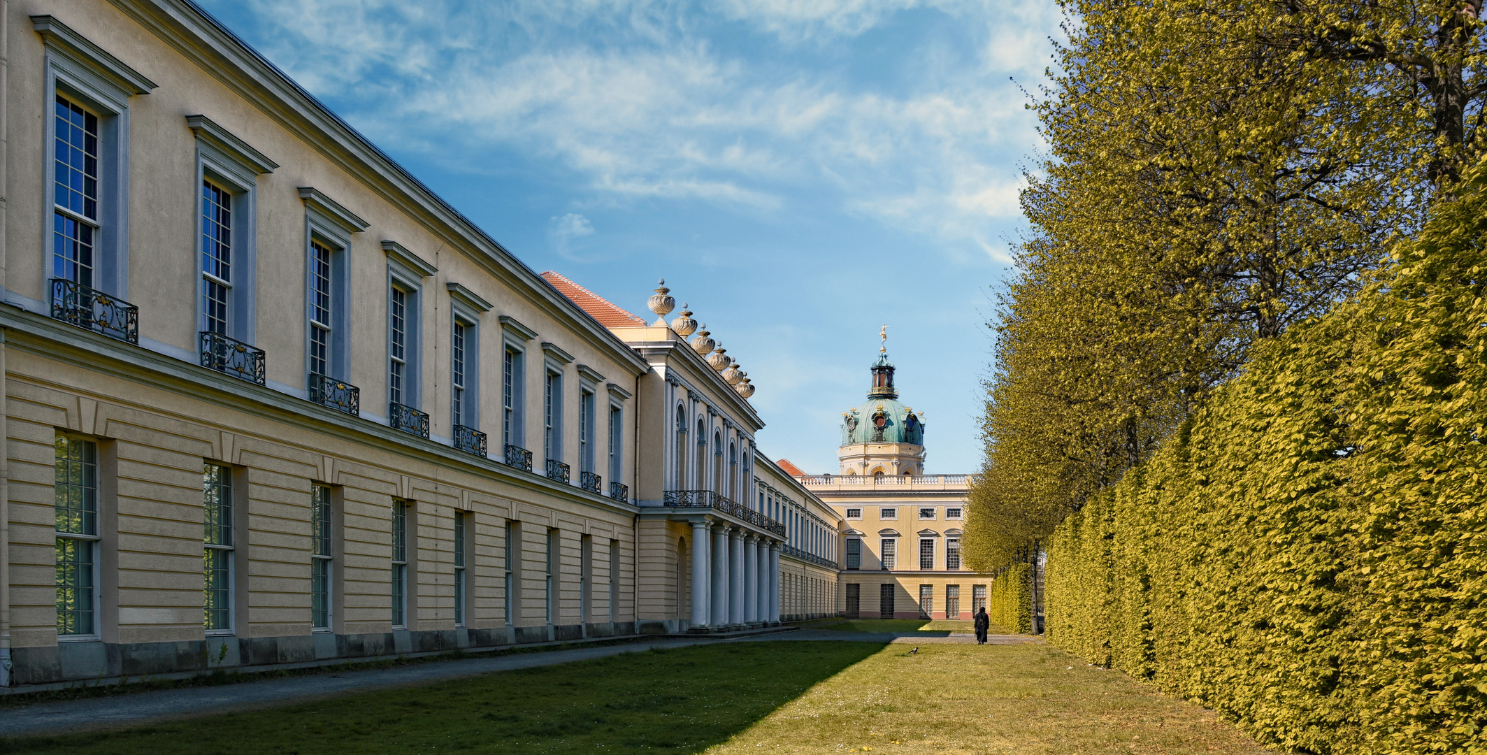
POLYGON ((913 476, 925 473, 923 416, 904 406, 894 388, 894 363, 888 361, 888 330, 873 363, 873 385, 867 403, 842 412, 842 474, 913 476))

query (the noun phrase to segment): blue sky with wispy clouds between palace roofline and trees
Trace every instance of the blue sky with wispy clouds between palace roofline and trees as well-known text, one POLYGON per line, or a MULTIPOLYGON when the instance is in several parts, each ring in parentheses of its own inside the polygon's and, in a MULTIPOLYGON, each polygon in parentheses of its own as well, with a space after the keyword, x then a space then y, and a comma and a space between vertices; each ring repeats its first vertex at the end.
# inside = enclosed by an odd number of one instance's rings
POLYGON ((532 269, 645 315, 666 278, 836 471, 877 330, 974 471, 1051 1, 198 0, 532 269))

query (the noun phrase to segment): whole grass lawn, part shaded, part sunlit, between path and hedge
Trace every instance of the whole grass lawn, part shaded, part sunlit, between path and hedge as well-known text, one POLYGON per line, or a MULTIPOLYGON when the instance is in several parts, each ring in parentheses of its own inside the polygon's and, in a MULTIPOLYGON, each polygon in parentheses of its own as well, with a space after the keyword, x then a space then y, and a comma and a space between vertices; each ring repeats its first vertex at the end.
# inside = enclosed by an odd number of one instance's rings
POLYGON ((6 754, 1246 754, 1257 745, 1041 644, 736 642, 48 740, 6 754), (1074 666, 1072 669, 1069 666, 1074 666))

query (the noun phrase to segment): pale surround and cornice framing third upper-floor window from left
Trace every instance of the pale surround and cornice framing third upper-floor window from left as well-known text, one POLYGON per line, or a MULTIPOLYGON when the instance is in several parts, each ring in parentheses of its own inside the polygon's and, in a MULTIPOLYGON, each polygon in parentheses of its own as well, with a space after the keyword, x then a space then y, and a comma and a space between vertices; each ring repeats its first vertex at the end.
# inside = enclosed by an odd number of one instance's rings
MULTIPOLYGON (((311 325, 309 312, 314 308, 314 269, 311 244, 318 241, 332 251, 330 263, 330 343, 326 354, 326 376, 351 382, 346 375, 349 361, 349 302, 351 296, 351 235, 367 229, 367 221, 351 214, 314 187, 299 187, 305 201, 305 373, 309 373, 311 325)), ((363 416, 367 416, 363 412, 363 416)))

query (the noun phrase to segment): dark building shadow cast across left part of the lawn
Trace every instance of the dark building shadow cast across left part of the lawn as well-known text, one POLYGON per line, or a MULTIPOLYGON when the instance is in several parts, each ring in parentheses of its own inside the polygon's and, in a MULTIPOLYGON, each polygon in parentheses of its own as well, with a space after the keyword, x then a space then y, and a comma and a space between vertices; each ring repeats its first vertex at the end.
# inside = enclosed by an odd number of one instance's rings
POLYGON ((0 740, 4 754, 699 752, 879 642, 730 642, 116 731, 0 740))

